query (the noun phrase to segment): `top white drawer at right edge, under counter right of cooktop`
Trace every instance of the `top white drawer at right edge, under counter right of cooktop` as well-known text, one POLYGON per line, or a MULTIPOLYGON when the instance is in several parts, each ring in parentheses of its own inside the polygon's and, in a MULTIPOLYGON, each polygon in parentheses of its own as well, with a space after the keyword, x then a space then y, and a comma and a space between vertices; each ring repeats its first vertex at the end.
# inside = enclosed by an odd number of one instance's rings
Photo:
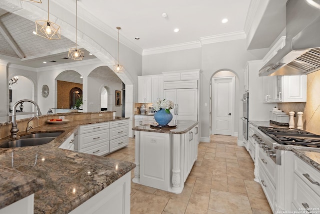
MULTIPOLYGON (((293 156, 293 171, 318 195, 320 195, 320 172, 312 168, 296 155, 293 156), (313 182, 313 183, 312 183, 313 182)), ((320 207, 320 206, 319 206, 320 207)))

